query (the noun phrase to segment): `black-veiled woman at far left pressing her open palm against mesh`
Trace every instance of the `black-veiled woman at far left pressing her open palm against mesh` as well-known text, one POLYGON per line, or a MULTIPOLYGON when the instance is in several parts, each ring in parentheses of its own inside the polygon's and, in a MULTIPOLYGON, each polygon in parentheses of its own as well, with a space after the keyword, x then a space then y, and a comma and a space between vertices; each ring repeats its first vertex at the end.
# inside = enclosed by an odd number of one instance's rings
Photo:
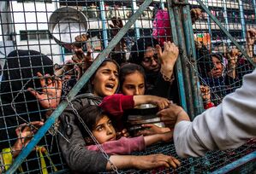
MULTIPOLYGON (((14 50, 7 56, 3 67, 0 95, 2 105, 0 150, 5 151, 2 154, 11 151, 9 159, 15 159, 21 149, 27 145, 25 142, 31 139, 31 136, 30 138, 21 136, 27 135, 26 132, 24 133, 24 130, 27 130, 24 127, 32 129, 36 125, 42 125, 41 120, 47 119, 60 102, 62 83, 51 75, 53 75, 51 59, 38 51, 14 50), (21 127, 22 129, 17 129, 21 127)), ((31 132, 32 135, 33 133, 31 132)), ((51 135, 46 135, 39 142, 40 146, 45 144, 51 144, 52 150, 55 151, 51 154, 51 159, 57 164, 56 161, 60 161, 60 156, 57 153, 57 143, 52 142, 51 135)), ((34 152, 29 154, 28 162, 21 165, 23 171, 39 173, 38 159, 34 152)), ((9 165, 7 166, 4 160, 5 169, 7 169, 9 165)), ((11 164, 10 161, 9 164, 11 164)), ((49 165, 47 167, 49 172, 53 172, 49 165)))

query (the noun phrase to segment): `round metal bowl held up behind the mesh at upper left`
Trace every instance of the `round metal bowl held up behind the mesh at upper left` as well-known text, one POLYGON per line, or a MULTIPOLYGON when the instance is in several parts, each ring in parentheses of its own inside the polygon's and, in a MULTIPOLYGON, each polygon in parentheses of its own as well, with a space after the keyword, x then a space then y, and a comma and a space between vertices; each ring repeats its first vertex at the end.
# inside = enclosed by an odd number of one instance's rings
POLYGON ((80 10, 63 7, 51 14, 48 27, 57 44, 71 49, 74 38, 87 32, 88 20, 80 10))

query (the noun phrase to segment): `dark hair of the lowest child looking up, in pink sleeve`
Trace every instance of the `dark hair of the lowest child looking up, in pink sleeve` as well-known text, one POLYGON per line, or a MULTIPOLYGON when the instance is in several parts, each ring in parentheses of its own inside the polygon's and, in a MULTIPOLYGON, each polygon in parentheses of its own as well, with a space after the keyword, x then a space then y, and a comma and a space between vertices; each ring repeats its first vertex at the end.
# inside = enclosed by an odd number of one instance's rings
MULTIPOLYGON (((80 108, 80 110, 78 110, 78 113, 80 115, 80 118, 84 121, 84 123, 87 125, 90 131, 94 129, 99 119, 102 119, 104 117, 104 112, 102 108, 96 105, 82 107, 80 108)), ((78 127, 83 137, 90 137, 84 125, 80 123, 80 120, 78 120, 78 127)))

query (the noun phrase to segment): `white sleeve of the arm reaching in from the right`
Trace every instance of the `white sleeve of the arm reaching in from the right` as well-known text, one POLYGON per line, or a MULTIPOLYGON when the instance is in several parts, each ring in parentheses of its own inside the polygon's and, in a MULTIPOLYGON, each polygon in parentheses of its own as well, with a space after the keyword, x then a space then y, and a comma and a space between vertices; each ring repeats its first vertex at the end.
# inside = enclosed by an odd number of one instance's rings
POLYGON ((243 85, 207 109, 193 122, 182 121, 174 131, 176 152, 182 157, 202 156, 207 150, 238 148, 256 137, 256 70, 243 85))

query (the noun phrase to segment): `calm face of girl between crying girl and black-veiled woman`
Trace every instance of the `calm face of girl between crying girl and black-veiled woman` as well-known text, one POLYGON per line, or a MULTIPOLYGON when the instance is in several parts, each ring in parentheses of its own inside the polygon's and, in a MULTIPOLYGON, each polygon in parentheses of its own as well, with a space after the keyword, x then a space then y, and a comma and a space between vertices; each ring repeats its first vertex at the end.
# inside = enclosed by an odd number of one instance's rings
POLYGON ((145 79, 144 76, 136 71, 128 74, 122 84, 122 94, 126 96, 144 95, 145 79))

